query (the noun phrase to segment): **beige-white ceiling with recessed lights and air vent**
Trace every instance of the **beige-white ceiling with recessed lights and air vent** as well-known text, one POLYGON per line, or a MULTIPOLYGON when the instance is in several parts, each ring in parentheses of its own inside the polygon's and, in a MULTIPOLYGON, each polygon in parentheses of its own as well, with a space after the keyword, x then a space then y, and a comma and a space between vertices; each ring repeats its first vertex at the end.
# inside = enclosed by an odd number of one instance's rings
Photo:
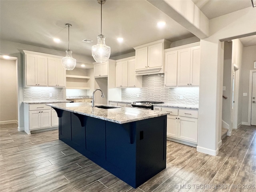
MULTIPOLYGON (((192 0, 210 19, 252 6, 250 0, 192 0)), ((0 0, 0 37, 23 44, 91 56, 100 34, 100 4, 96 0, 0 0), (53 42, 53 38, 61 42, 53 42), (93 40, 91 43, 83 39, 93 40)), ((133 52, 133 47, 160 39, 177 41, 194 36, 146 0, 107 0, 102 5, 102 34, 111 56, 133 52), (156 27, 164 20, 166 26, 156 27), (117 42, 123 37, 122 43, 117 42)))

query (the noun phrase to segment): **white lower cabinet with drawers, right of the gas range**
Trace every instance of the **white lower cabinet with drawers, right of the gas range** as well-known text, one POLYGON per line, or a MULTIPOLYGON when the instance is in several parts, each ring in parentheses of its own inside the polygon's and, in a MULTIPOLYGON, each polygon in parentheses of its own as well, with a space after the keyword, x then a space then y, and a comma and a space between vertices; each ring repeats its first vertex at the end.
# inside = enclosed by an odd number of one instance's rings
POLYGON ((167 115, 167 137, 197 143, 198 110, 154 106, 154 110, 169 112, 167 115))

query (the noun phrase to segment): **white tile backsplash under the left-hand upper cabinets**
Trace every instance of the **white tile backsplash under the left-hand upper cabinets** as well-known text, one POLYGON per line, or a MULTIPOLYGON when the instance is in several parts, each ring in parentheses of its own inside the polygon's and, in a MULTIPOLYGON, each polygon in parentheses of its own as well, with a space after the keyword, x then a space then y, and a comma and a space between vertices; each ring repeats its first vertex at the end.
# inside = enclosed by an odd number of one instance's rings
POLYGON ((56 101, 66 100, 66 88, 56 87, 24 87, 24 101, 56 101), (52 93, 52 97, 50 97, 52 93))

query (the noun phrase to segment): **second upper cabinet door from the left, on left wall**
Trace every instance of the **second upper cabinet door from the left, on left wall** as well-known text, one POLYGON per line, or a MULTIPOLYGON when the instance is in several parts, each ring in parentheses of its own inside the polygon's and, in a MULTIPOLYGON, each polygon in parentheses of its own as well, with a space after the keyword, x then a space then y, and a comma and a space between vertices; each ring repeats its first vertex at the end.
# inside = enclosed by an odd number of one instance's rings
POLYGON ((37 56, 37 85, 48 86, 48 58, 37 56))

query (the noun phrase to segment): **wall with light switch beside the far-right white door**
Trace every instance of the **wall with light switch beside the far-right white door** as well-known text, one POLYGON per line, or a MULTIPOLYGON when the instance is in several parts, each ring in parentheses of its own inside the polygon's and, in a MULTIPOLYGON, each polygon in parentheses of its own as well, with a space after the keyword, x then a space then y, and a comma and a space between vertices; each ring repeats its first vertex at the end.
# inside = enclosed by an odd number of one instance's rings
MULTIPOLYGON (((254 69, 253 62, 256 61, 256 46, 243 48, 242 54, 242 122, 248 123, 248 99, 249 99, 249 72, 254 69)), ((250 118, 250 117, 249 117, 250 118)))

